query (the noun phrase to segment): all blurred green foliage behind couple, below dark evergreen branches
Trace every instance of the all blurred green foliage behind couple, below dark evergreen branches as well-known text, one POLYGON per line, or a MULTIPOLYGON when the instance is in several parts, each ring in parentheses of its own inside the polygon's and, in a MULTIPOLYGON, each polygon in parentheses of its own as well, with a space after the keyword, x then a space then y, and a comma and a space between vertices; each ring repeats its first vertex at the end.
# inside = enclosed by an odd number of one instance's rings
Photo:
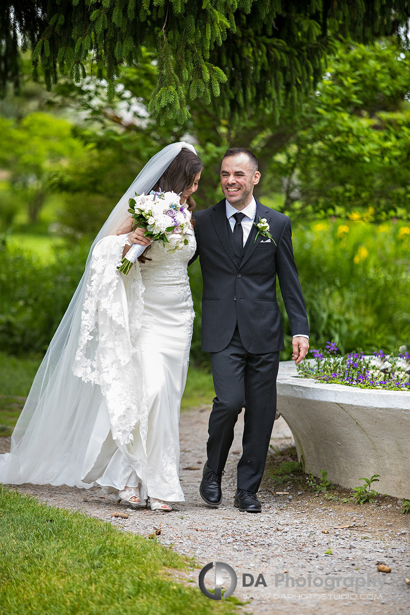
MULTIPOLYGON (((198 207, 220 199, 228 146, 260 159, 257 196, 292 218, 294 252, 312 330, 311 346, 389 351, 409 341, 410 54, 390 39, 340 41, 315 93, 296 116, 249 109, 221 119, 190 103, 190 119, 164 125, 148 113, 155 54, 119 71, 115 98, 104 82, 61 78, 53 95, 34 85, 23 60, 20 95, 0 102, 0 346, 42 353, 82 275, 92 238, 143 164, 188 138, 204 161, 198 207), (187 137, 187 135, 189 135, 187 137)), ((201 351, 201 274, 191 266, 201 351)), ((291 331, 283 305, 286 351, 291 331)))

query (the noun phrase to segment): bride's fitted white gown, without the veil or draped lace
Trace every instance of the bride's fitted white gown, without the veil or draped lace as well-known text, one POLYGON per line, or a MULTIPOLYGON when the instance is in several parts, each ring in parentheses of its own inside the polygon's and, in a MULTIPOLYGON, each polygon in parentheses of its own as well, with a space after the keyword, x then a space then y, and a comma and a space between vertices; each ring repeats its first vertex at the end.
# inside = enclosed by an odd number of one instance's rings
POLYGON ((179 416, 194 318, 187 264, 195 247, 193 234, 187 246, 171 254, 163 244, 153 242, 147 253, 151 261, 135 266, 143 285, 142 301, 137 299, 143 309, 135 341, 147 415, 134 426, 131 442, 121 443, 113 437, 103 400, 82 478, 101 485, 113 498, 125 486, 139 486, 142 502, 148 496, 184 501, 179 482, 179 416))

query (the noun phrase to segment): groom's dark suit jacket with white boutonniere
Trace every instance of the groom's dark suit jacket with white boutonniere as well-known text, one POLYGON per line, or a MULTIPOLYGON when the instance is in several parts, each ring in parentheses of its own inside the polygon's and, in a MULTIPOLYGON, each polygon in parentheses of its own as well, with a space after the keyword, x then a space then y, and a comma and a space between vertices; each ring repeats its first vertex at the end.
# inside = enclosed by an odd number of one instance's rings
POLYGON ((292 250, 291 221, 256 201, 255 222, 266 218, 270 234, 258 236, 252 224, 238 261, 232 244, 225 199, 195 212, 197 256, 203 274, 202 345, 219 352, 230 343, 238 322, 247 352, 264 354, 284 349, 283 327, 276 301, 278 276, 292 335, 309 335, 308 319, 292 250))

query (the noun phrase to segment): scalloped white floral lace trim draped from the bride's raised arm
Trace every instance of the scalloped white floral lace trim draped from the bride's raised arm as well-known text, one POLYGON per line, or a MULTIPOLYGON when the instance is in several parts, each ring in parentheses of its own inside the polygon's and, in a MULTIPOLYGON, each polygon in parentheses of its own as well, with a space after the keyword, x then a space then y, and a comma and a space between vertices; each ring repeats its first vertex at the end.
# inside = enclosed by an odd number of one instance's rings
POLYGON ((127 276, 117 269, 126 237, 104 237, 94 247, 73 365, 82 381, 100 385, 120 444, 132 441, 137 423, 145 443, 148 429, 138 341, 144 287, 138 263, 127 276))

